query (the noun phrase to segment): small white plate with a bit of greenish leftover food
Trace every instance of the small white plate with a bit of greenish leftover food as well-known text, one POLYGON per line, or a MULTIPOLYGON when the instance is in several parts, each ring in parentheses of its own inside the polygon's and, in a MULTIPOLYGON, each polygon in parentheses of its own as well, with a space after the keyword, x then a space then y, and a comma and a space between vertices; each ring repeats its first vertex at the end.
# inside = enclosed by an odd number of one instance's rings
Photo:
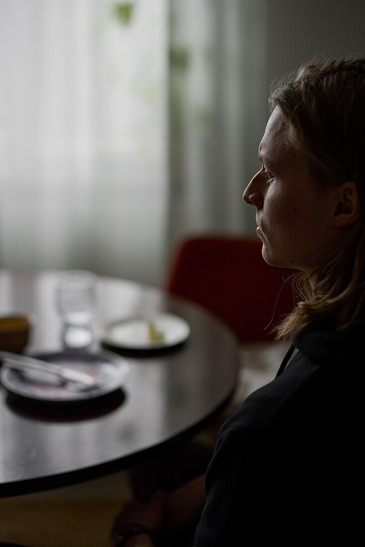
POLYGON ((101 339, 105 344, 124 350, 157 350, 182 344, 189 334, 190 327, 185 319, 172 313, 158 313, 148 319, 134 317, 108 323, 102 329, 101 339), (158 333, 163 334, 163 339, 159 339, 158 333), (156 335, 155 339, 151 334, 156 335))

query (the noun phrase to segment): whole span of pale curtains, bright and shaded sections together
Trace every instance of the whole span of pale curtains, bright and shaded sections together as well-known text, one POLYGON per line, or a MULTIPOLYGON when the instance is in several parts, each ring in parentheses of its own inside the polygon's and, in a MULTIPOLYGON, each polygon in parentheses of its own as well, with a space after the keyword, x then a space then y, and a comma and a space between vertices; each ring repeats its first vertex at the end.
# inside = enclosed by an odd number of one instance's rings
POLYGON ((0 0, 0 267, 159 284, 256 226, 265 2, 0 0))

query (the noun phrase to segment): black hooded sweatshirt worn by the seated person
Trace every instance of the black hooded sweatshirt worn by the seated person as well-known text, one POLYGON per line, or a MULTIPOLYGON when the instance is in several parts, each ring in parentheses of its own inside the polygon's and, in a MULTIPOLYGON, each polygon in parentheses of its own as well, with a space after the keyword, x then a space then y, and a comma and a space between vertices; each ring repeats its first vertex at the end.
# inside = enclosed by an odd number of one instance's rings
POLYGON ((307 325, 285 370, 223 424, 195 547, 362 536, 364 339, 364 325, 307 325))

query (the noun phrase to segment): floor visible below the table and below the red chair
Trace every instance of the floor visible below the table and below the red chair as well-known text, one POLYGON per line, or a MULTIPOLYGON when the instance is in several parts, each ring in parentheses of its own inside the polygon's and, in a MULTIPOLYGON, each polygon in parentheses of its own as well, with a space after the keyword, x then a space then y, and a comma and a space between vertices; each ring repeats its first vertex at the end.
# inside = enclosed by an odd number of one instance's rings
MULTIPOLYGON (((237 390, 223 420, 242 400, 274 379, 289 344, 247 345, 237 390)), ((202 432, 215 437, 221 421, 202 432)), ((128 472, 83 484, 0 500, 0 540, 28 547, 106 547, 114 516, 131 499, 128 472)))

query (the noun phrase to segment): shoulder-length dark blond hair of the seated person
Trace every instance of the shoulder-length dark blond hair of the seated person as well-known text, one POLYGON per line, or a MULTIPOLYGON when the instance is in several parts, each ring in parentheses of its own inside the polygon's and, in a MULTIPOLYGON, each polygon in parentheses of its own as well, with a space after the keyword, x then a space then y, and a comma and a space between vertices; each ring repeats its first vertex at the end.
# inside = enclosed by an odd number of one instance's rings
POLYGON ((312 321, 342 330, 365 320, 365 59, 302 65, 270 93, 286 120, 289 146, 306 161, 318 189, 356 183, 360 217, 331 257, 294 274, 297 303, 274 331, 293 337, 312 321))

